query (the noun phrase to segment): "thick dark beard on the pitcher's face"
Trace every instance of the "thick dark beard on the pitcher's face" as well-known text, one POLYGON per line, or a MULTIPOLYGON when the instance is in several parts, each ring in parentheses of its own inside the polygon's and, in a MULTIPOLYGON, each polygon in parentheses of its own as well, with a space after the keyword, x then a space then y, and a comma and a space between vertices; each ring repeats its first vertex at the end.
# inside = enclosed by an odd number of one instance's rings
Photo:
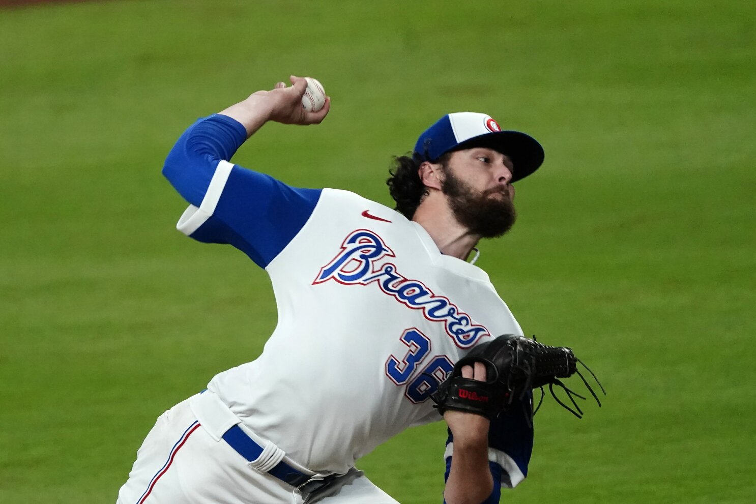
POLYGON ((507 190, 495 188, 476 193, 448 166, 444 168, 446 177, 441 190, 448 196, 451 211, 460 224, 482 238, 500 237, 512 228, 517 212, 507 190), (496 193, 503 194, 503 197, 491 197, 496 193))

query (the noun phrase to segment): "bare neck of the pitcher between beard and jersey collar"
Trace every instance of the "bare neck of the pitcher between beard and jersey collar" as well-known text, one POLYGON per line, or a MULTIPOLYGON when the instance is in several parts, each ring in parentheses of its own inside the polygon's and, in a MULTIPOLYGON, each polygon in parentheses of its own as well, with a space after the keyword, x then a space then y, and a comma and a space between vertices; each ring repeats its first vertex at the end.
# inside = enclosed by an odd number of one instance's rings
POLYGON ((445 199, 432 196, 423 199, 412 220, 423 226, 442 254, 466 261, 480 237, 457 222, 445 199))

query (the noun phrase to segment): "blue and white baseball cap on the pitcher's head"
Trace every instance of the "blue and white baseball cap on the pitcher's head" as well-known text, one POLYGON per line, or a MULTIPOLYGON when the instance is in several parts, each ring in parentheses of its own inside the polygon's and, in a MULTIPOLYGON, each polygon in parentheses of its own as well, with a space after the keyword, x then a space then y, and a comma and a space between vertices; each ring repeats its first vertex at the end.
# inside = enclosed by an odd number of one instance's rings
POLYGON ((501 131, 491 116, 475 112, 455 112, 438 119, 417 139, 413 156, 435 162, 452 150, 488 147, 507 154, 514 164, 512 181, 535 172, 544 162, 544 148, 521 131, 501 131))

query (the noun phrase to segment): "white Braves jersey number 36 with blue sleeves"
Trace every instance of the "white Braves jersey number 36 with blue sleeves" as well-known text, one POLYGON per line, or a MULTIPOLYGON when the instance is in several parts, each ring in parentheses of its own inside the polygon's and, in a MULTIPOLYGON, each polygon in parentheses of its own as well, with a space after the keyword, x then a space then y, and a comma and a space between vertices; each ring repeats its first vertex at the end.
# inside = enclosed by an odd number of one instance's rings
MULTIPOLYGON (((443 255, 420 224, 355 193, 296 189, 228 162, 245 138, 233 119, 211 116, 184 133, 163 170, 191 203, 178 229, 245 252, 276 298, 262 354, 208 388, 299 464, 347 472, 405 428, 441 419, 429 394, 454 363, 522 329, 488 275, 443 255)), ((491 459, 513 486, 532 434, 513 419, 498 424, 509 430, 492 436, 491 459)))

